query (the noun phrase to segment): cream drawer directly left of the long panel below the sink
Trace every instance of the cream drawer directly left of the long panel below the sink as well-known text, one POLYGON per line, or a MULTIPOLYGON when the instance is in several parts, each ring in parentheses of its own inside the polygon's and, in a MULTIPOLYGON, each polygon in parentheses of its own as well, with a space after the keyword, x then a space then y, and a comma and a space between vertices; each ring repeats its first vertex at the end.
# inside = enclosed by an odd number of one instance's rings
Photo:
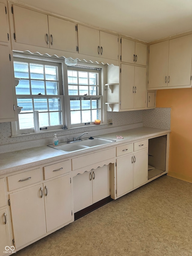
POLYGON ((68 173, 70 171, 71 171, 71 161, 66 160, 56 164, 50 164, 50 165, 44 166, 44 177, 45 179, 50 179, 64 173, 68 173))

